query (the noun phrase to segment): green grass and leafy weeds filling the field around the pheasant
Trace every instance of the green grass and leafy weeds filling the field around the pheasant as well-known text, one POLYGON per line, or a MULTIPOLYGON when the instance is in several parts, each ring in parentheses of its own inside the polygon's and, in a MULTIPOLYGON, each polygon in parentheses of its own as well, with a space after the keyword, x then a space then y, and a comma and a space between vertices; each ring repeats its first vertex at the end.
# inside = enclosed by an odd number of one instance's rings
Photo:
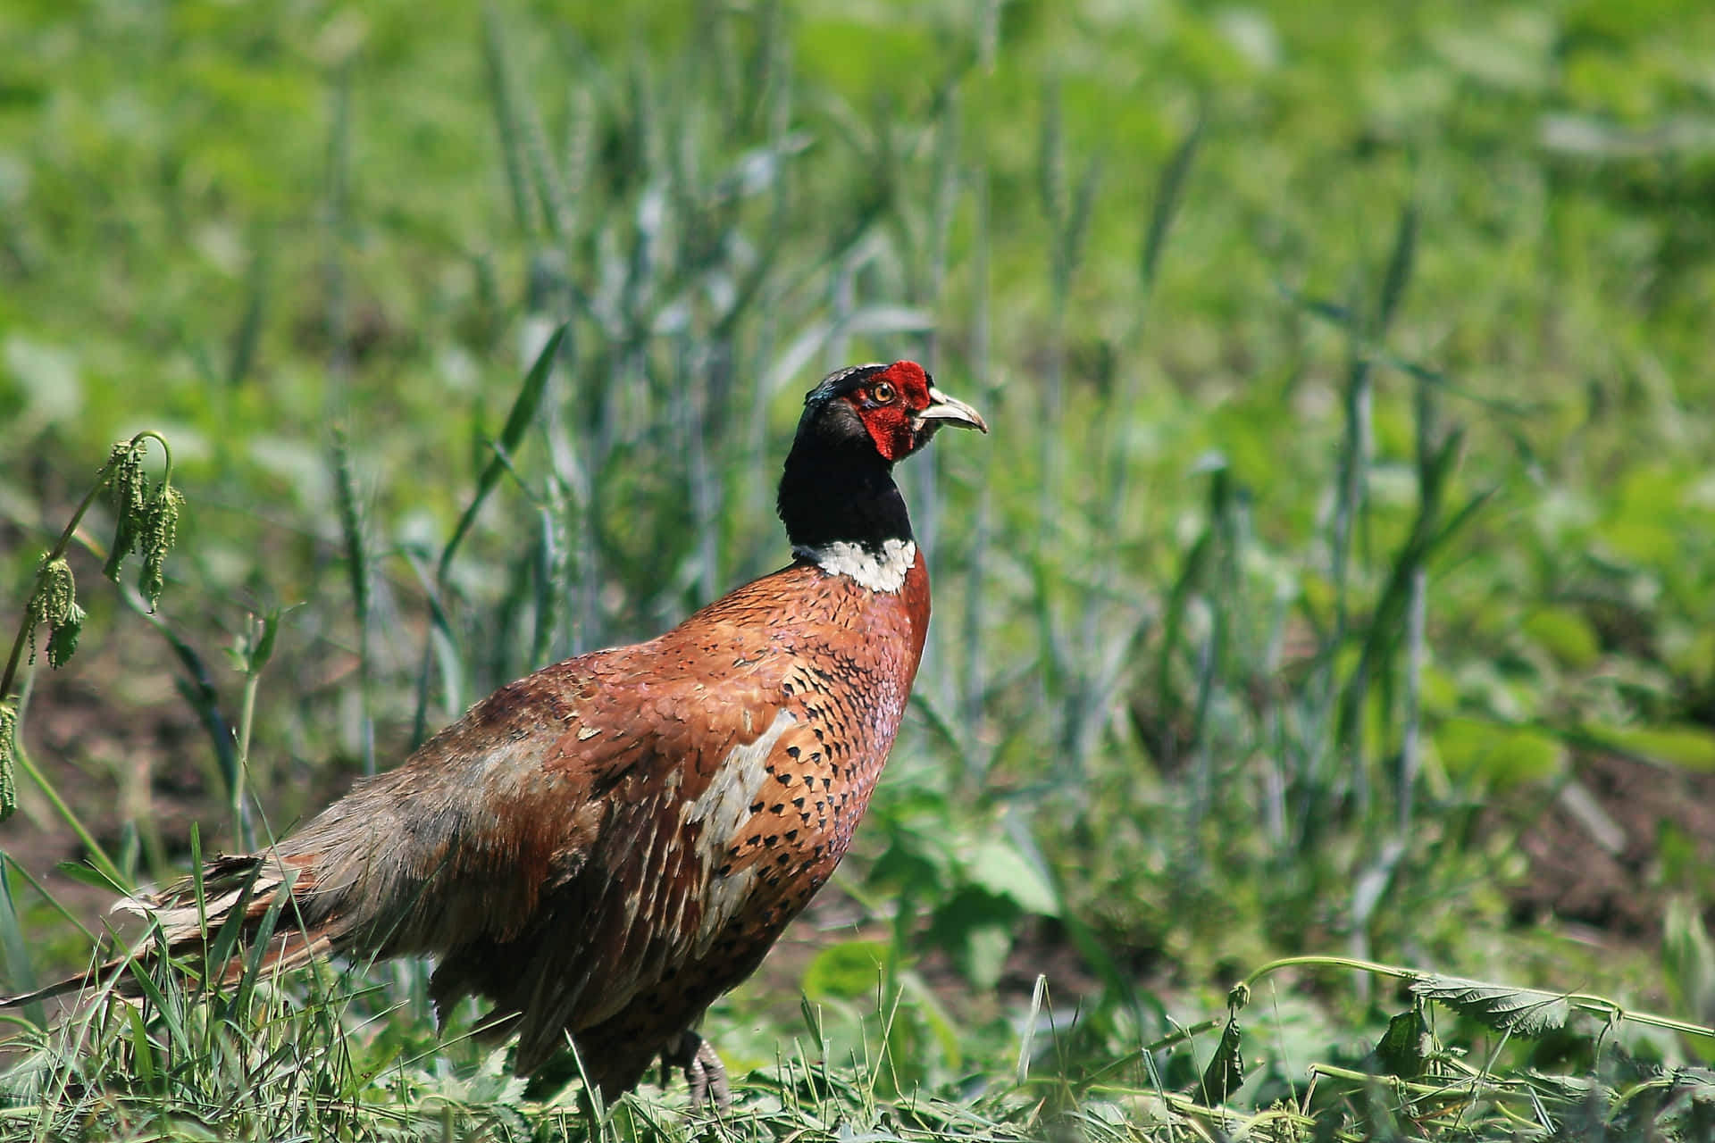
MULTIPOLYGON (((1350 968, 1209 1066, 1305 954, 1715 1021, 1700 838, 1643 937, 1511 907, 1593 757, 1715 766, 1706 5, 624 12, 0 14, 0 613, 115 439, 187 499, 146 620, 96 502, 19 675, 12 982, 87 961, 55 853, 280 835, 777 566, 797 394, 918 356, 995 434, 902 470, 918 694, 710 1131, 1706 1138, 1706 1038, 1350 968)), ((689 1131, 527 1097, 413 966, 249 984, 31 1033, 5 1131, 689 1131)))

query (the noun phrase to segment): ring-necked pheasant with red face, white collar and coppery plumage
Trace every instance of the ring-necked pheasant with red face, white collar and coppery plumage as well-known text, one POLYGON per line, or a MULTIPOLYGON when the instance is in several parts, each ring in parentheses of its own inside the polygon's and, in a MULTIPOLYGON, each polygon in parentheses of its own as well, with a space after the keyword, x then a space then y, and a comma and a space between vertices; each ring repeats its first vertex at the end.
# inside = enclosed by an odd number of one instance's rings
MULTIPOLYGON (((501 687, 271 850, 213 860, 208 931, 290 883, 276 963, 432 954, 439 1011, 487 997, 520 1074, 569 1033, 604 1097, 660 1056, 724 1102, 691 1028, 833 872, 887 761, 930 622, 892 468, 942 425, 988 432, 912 362, 830 374, 780 478, 791 566, 501 687)), ((204 941, 190 883, 122 905, 177 953, 204 941)))

